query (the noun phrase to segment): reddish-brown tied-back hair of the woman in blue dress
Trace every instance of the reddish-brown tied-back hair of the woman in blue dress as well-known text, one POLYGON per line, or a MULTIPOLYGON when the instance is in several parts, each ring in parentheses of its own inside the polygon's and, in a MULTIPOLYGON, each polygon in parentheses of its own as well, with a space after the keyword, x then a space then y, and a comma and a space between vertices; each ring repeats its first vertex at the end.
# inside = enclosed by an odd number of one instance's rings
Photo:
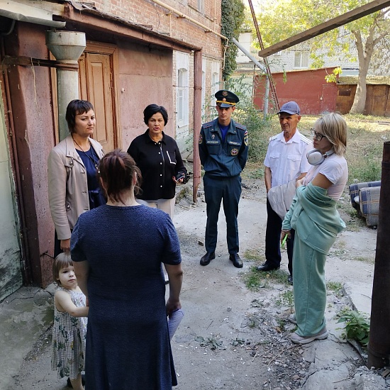
POLYGON ((140 169, 135 165, 133 157, 120 149, 107 153, 100 160, 99 176, 104 183, 108 199, 113 201, 121 201, 124 204, 121 194, 126 189, 134 187, 135 195, 140 192, 142 180, 140 169))

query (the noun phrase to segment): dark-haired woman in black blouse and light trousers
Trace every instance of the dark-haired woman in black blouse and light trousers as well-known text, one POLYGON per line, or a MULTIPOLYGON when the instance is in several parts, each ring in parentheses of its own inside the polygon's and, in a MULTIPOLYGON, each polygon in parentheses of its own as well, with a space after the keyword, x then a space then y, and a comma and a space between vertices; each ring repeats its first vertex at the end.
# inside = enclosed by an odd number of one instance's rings
POLYGON ((128 147, 128 154, 140 168, 143 184, 138 202, 160 208, 172 218, 176 184, 186 176, 182 156, 176 141, 164 133, 168 113, 163 106, 150 104, 143 111, 148 129, 128 147))

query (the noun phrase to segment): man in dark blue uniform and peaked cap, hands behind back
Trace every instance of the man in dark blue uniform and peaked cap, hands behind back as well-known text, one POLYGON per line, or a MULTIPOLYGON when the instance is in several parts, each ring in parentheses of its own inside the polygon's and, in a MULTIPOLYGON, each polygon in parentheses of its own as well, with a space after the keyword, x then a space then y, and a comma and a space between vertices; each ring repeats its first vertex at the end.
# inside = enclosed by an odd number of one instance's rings
POLYGON ((218 214, 223 201, 229 259, 235 267, 243 267, 238 255, 238 202, 241 196, 241 177, 247 162, 248 136, 245 126, 231 118, 238 103, 233 92, 216 92, 218 118, 204 123, 199 135, 199 156, 204 167, 204 195, 206 199, 206 255, 201 265, 216 257, 218 214))

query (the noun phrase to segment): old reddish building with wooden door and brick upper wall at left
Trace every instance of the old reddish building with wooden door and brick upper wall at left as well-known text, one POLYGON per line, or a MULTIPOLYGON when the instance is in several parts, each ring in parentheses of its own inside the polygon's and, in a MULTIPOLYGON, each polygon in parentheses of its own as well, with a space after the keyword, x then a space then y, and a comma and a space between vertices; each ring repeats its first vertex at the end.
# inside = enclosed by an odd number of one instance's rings
POLYGON ((47 158, 65 113, 46 30, 86 35, 75 92, 94 104, 106 152, 126 150, 145 131, 143 109, 152 103, 167 108, 165 130, 185 147, 201 122, 196 107, 220 82, 221 0, 0 1, 0 300, 23 282, 52 281, 47 158))

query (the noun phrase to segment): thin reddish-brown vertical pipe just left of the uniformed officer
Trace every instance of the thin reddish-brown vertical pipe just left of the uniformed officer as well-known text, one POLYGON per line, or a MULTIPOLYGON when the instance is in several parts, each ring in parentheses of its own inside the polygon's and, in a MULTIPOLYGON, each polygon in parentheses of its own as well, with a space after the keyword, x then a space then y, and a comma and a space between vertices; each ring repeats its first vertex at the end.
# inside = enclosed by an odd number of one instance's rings
POLYGON ((202 52, 194 52, 194 179, 192 200, 196 202, 198 186, 201 182, 201 162, 199 157, 199 131, 202 116, 202 52))

